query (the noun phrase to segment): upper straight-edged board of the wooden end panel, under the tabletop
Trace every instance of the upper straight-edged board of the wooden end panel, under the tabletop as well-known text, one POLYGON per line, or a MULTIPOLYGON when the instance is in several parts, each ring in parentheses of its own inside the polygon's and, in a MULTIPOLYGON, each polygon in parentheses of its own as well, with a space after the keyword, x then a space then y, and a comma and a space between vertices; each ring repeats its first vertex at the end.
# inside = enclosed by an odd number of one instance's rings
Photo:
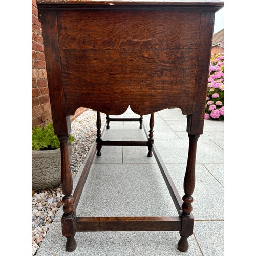
POLYGON ((200 12, 59 11, 61 49, 197 49, 200 12))

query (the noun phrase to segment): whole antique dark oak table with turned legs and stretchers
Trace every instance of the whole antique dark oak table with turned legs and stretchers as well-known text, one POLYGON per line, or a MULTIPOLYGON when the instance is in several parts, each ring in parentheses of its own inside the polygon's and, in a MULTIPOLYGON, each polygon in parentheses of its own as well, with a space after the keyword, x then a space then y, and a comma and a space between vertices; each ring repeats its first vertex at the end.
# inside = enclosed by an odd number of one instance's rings
POLYGON ((75 250, 78 231, 162 230, 179 231, 178 249, 187 251, 187 238, 194 226, 191 211, 196 148, 203 133, 214 17, 223 2, 37 0, 37 5, 54 131, 60 141, 61 188, 65 195, 61 222, 62 234, 67 237, 66 250, 75 250), (111 26, 105 26, 106 22, 111 26), (112 26, 115 30, 111 30, 112 26), (129 105, 140 116, 151 114, 148 140, 103 141, 100 112, 120 115, 129 105), (80 106, 98 111, 97 138, 72 195, 69 116, 80 106), (189 148, 182 200, 153 140, 154 113, 172 107, 187 115, 189 148), (148 156, 153 153, 156 157, 177 217, 76 216, 95 154, 100 156, 102 146, 114 144, 148 146, 148 156))

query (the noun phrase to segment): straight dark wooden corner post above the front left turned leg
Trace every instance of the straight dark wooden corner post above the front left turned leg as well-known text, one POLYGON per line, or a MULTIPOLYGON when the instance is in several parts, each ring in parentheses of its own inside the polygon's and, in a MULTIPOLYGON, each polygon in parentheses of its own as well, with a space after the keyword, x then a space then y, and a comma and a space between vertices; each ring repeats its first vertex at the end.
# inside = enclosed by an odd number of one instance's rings
POLYGON ((54 132, 56 135, 68 135, 71 124, 65 113, 56 11, 41 11, 41 23, 54 132))

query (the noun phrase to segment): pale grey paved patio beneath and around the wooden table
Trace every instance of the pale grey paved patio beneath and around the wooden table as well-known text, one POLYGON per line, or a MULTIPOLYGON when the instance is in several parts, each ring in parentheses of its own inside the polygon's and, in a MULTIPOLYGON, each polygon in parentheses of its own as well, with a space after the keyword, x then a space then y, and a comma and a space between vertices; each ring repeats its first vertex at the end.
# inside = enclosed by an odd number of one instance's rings
MULTIPOLYGON (((130 109, 121 117, 137 117, 130 109)), ((147 126, 150 115, 143 116, 147 126)), ((102 120, 103 121, 103 120, 102 120)), ((223 121, 205 120, 198 140, 196 188, 193 194, 194 234, 189 249, 177 249, 179 232, 77 232, 77 248, 66 252, 61 234, 62 208, 38 249, 37 256, 73 255, 224 255, 223 121)), ((110 122, 104 140, 146 140, 139 122, 110 122)), ((155 113, 154 143, 179 194, 188 153, 186 116, 181 110, 155 113)), ((157 162, 147 157, 147 147, 103 146, 95 157, 77 216, 177 216, 157 162)), ((89 154, 88 154, 89 155, 89 154)), ((81 165, 74 188, 84 167, 81 165)))

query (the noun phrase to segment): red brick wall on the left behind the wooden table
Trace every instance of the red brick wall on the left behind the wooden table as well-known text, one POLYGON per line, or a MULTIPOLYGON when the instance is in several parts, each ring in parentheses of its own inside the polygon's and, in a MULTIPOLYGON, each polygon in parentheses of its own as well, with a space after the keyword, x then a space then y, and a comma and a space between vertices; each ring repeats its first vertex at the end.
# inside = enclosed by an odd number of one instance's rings
MULTIPOLYGON (((87 108, 78 108, 73 121, 87 108)), ((52 113, 47 83, 41 23, 38 20, 36 0, 32 0, 32 128, 52 122, 52 113)))

